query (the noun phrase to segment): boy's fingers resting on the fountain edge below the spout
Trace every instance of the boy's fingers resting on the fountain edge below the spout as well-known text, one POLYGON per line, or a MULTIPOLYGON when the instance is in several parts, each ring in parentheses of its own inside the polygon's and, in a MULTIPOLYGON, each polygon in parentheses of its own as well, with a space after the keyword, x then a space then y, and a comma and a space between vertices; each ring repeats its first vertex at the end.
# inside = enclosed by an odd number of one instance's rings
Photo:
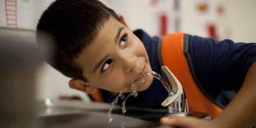
MULTIPOLYGON (((160 119, 161 124, 179 128, 197 128, 201 124, 200 119, 194 117, 163 117, 160 119)), ((203 122, 202 122, 203 123, 203 122)), ((199 126, 200 127, 200 126, 199 126)))

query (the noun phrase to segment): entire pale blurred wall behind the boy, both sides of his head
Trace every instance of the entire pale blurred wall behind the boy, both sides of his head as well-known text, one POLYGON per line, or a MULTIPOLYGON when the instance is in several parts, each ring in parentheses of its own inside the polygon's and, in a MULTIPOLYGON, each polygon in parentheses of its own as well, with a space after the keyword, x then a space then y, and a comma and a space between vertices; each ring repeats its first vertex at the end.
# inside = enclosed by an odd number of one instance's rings
MULTIPOLYGON (((6 27, 4 0, 0 1, 0 27, 6 27)), ((17 0, 24 24, 20 29, 35 30, 38 18, 53 0, 17 0), (23 3, 22 3, 23 2, 23 3), (21 6, 23 5, 23 6, 21 6), (23 8, 22 8, 23 7, 23 8), (29 8, 30 7, 30 8, 29 8), (26 12, 26 13, 25 13, 26 12), (27 15, 30 14, 30 15, 27 15), (33 16, 31 16, 33 15, 33 16)), ((215 38, 229 38, 235 42, 256 42, 256 0, 100 0, 124 15, 131 30, 143 29, 149 35, 186 32, 192 35, 211 37, 209 25, 214 28, 215 38), (198 5, 207 4, 206 11, 198 5), (178 5, 178 6, 177 6, 178 5), (223 7, 222 14, 218 6, 223 7), (167 29, 164 29, 166 26, 167 29)), ((21 19, 22 20, 22 19, 21 19)), ((211 29, 212 31, 213 29, 211 29)), ((70 78, 64 77, 49 65, 38 71, 37 99, 57 98, 59 95, 77 95, 89 101, 86 94, 68 87, 70 78)))

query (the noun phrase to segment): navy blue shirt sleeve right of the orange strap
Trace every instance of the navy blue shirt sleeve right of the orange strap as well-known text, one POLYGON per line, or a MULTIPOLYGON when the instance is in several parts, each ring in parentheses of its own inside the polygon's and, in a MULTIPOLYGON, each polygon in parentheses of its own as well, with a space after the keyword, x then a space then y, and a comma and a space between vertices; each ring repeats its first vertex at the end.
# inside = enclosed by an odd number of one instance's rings
POLYGON ((196 79, 214 99, 224 90, 240 89, 256 60, 256 43, 234 43, 189 36, 188 52, 196 79))

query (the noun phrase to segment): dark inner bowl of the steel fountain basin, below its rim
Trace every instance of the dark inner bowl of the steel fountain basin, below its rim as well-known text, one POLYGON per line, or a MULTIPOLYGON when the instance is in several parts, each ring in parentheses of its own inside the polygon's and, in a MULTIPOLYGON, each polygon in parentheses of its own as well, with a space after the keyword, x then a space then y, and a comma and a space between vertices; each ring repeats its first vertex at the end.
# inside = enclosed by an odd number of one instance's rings
POLYGON ((114 119, 111 123, 108 123, 106 118, 106 113, 86 111, 42 116, 38 117, 38 121, 41 128, 149 128, 153 126, 152 122, 124 115, 113 114, 114 119))

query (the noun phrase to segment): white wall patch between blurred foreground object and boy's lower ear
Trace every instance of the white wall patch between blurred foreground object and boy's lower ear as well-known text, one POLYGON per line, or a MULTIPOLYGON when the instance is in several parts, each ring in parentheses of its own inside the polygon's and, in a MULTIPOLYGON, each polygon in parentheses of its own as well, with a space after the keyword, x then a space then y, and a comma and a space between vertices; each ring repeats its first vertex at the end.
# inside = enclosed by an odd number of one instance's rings
POLYGON ((90 101, 85 93, 69 88, 68 81, 70 78, 65 77, 60 72, 53 69, 48 64, 43 64, 38 71, 37 77, 37 99, 58 98, 60 95, 78 96, 84 101, 90 101))

